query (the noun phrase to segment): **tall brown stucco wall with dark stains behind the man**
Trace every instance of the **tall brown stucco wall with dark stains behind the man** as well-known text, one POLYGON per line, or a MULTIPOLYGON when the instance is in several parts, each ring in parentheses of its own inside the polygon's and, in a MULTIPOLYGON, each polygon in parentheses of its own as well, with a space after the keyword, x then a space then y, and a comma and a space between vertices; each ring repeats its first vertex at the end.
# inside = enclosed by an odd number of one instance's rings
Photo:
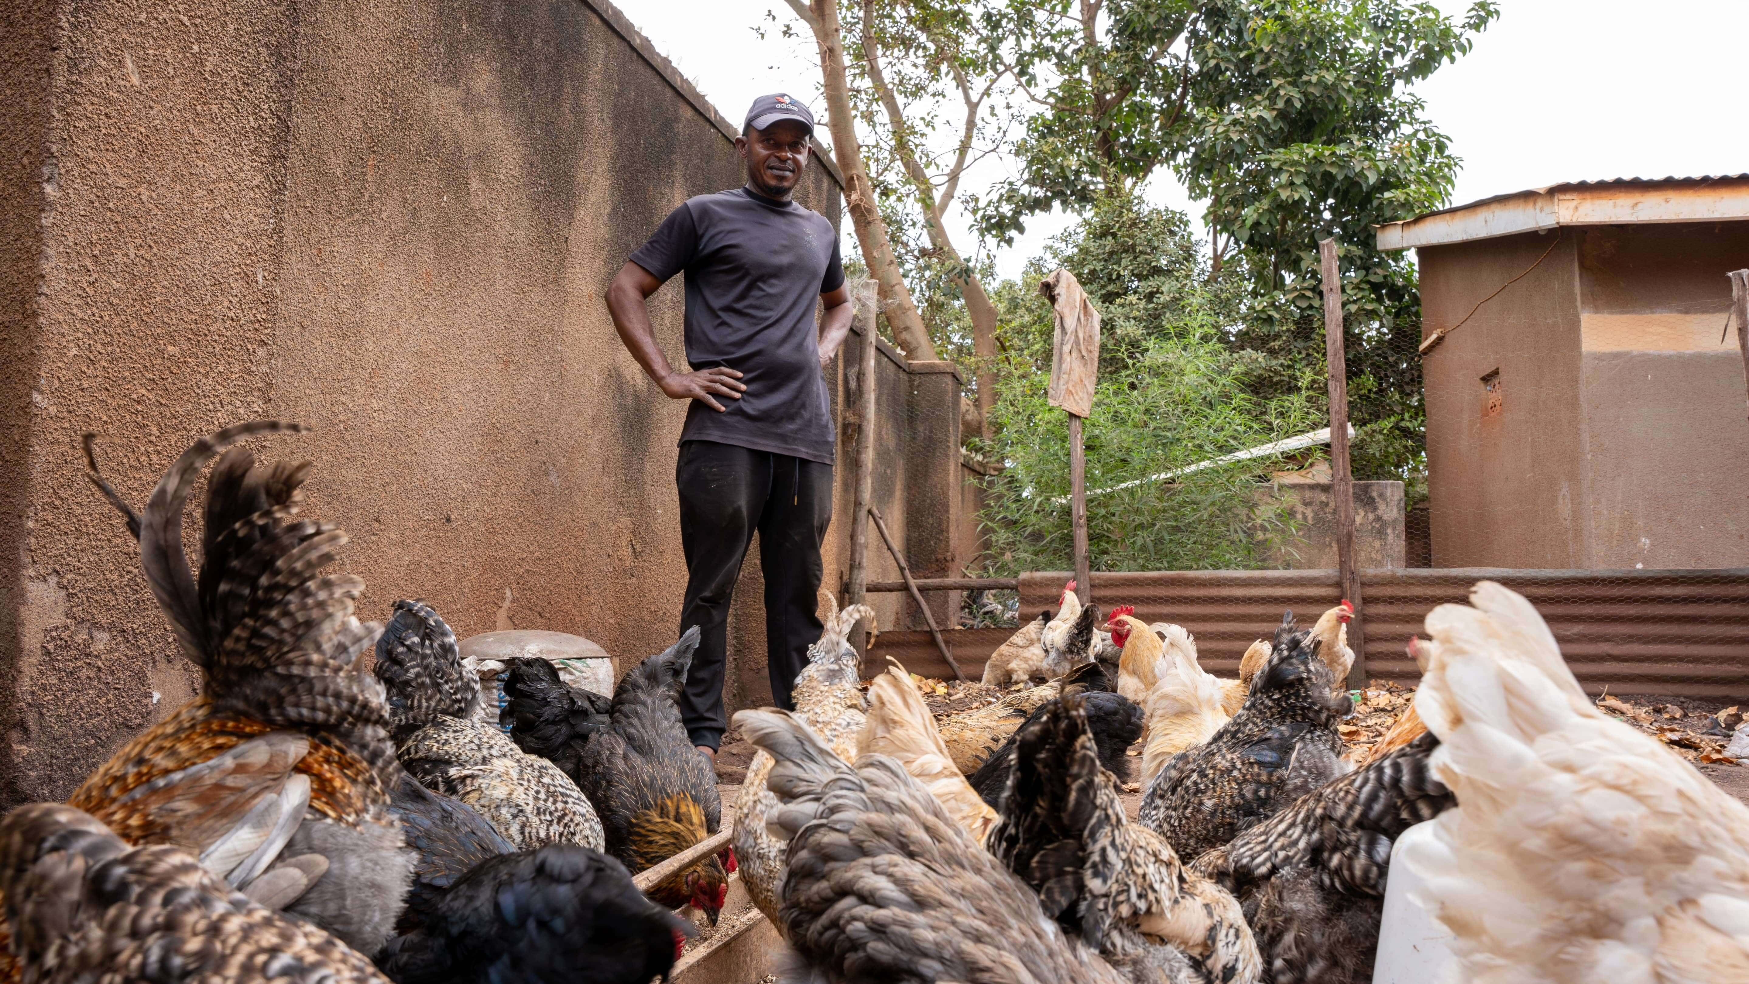
MULTIPOLYGON (((423 596, 465 636, 509 589, 514 624, 621 661, 672 641, 686 407, 623 351, 602 292, 668 210, 742 173, 593 2, 3 17, 0 802, 65 797, 196 685, 86 484, 84 430, 143 503, 194 437, 304 421, 266 446, 317 461, 310 510, 352 533, 364 615, 423 596)), ((798 197, 838 220, 827 168, 798 197)), ((679 360, 679 281, 652 311, 679 360)), ((742 662, 763 661, 757 594, 750 561, 742 662)))

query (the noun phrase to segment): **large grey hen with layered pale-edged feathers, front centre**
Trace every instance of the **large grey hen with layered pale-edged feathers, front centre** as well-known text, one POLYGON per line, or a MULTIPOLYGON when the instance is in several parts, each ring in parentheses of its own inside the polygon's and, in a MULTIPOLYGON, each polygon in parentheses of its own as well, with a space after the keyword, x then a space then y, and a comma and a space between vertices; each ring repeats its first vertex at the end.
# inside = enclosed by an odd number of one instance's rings
POLYGON ((778 918, 803 963, 833 984, 1123 984, 1039 911, 1039 897, 979 848, 887 755, 848 766, 785 711, 735 715, 775 759, 766 820, 789 842, 778 918))

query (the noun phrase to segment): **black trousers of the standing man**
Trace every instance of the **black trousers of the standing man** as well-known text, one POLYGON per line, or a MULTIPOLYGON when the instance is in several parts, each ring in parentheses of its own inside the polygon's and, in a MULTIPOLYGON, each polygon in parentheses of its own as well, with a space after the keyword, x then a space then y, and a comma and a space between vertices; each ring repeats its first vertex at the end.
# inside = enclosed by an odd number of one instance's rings
POLYGON ((722 673, 729 601, 747 545, 759 531, 764 572, 766 673, 777 706, 794 710, 791 687, 820 638, 820 544, 833 521, 833 467, 714 440, 686 440, 673 470, 680 489, 686 601, 680 631, 698 626, 698 654, 680 696, 693 745, 715 748, 728 731, 722 673))

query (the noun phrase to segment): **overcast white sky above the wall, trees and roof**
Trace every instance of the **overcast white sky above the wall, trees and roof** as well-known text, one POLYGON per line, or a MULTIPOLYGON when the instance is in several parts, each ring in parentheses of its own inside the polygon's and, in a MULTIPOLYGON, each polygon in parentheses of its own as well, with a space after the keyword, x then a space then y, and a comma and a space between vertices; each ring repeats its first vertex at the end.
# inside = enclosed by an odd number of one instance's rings
MULTIPOLYGON (((1436 2, 1452 14, 1467 7, 1436 2)), ((1567 180, 1749 171, 1749 0, 1501 0, 1501 9, 1469 56, 1420 87, 1464 159, 1453 203, 1567 180)), ((761 93, 812 100, 819 87, 812 40, 784 40, 766 17, 791 19, 782 0, 644 0, 623 10, 729 121, 761 93), (756 26, 768 28, 764 40, 756 26)), ((990 161, 969 184, 1004 173, 990 161)), ((1200 217, 1170 175, 1149 192, 1200 217)), ((1037 217, 997 250, 999 273, 1018 274, 1067 224, 1037 217)), ((964 231, 955 243, 971 248, 964 231)))

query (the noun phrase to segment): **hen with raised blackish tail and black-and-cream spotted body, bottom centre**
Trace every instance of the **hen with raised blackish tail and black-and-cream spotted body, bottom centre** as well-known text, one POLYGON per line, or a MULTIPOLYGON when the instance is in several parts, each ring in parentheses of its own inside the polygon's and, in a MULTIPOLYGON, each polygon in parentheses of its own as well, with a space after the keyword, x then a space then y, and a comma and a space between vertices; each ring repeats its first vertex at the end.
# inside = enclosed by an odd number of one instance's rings
POLYGON ((1125 816, 1088 718, 1098 697, 1118 694, 1051 701, 1020 729, 990 851, 1039 893, 1046 916, 1132 981, 1258 981, 1258 946, 1233 895, 1125 816))

